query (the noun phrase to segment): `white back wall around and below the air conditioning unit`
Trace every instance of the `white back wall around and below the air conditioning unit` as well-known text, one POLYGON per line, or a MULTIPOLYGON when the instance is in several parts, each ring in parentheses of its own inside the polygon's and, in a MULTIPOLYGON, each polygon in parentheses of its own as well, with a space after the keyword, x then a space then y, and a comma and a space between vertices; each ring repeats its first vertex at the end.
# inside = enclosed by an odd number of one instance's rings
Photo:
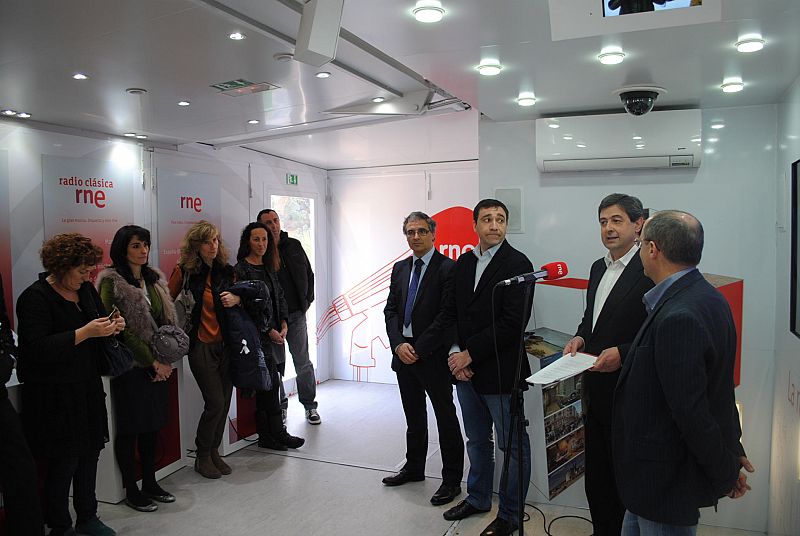
MULTIPOLYGON (((701 270, 744 279, 742 385, 736 396, 744 409, 743 443, 757 470, 750 478, 753 493, 721 501, 717 513, 704 510, 701 522, 765 530, 774 382, 776 108, 714 109, 703 115, 704 134, 712 119, 726 126, 714 131, 719 142, 706 144, 714 153, 704 155, 698 170, 613 173, 540 174, 532 122, 482 120, 480 196, 493 197, 495 188, 522 188, 525 232, 509 235, 511 244, 535 265, 563 260, 570 275, 583 278, 605 254, 597 205, 607 194, 636 195, 646 207, 687 210, 700 219, 706 233, 701 270)), ((574 332, 584 307, 581 294, 539 287, 532 324, 574 332)))

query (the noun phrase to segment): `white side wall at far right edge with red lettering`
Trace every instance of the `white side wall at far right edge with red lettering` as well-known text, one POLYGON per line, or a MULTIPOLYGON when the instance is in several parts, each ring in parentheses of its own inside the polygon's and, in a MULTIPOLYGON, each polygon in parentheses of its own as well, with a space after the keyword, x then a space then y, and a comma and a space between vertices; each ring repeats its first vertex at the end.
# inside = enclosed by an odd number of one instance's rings
POLYGON ((800 79, 778 106, 775 399, 769 489, 770 534, 800 534, 800 340, 789 331, 791 164, 800 159, 800 79))

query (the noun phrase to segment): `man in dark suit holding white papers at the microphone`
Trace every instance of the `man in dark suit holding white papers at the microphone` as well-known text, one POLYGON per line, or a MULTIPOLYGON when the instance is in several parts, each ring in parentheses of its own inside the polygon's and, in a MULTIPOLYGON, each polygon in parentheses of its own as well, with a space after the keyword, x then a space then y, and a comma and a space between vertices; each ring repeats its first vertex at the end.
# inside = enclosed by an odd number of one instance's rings
POLYGON ((608 254, 592 264, 586 311, 564 355, 582 351, 597 355, 583 375, 583 413, 586 431, 586 498, 594 536, 619 536, 625 506, 617 493, 611 458, 611 401, 621 359, 644 322, 642 302, 653 282, 644 275, 637 240, 644 223, 639 199, 611 194, 597 211, 600 238, 608 254), (613 372, 604 372, 611 370, 613 372))

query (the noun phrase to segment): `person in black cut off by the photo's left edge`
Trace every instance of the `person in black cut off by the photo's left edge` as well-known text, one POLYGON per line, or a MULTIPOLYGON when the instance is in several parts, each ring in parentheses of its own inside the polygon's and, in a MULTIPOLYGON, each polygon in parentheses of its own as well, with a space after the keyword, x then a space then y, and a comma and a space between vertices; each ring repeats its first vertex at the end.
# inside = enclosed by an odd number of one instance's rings
POLYGON ((0 489, 6 509, 8 534, 36 536, 44 534, 44 520, 36 489, 36 464, 6 389, 14 368, 15 352, 3 280, 0 278, 0 489))

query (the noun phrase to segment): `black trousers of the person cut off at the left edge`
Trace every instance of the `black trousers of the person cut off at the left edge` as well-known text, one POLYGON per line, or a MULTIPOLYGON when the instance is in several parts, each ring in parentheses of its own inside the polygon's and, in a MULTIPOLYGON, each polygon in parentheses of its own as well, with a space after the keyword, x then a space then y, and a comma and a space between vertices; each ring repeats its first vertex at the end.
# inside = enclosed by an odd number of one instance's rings
MULTIPOLYGON (((1 386, 0 386, 1 387, 1 386)), ((0 398, 0 487, 8 534, 44 534, 36 463, 8 398, 0 398)))

